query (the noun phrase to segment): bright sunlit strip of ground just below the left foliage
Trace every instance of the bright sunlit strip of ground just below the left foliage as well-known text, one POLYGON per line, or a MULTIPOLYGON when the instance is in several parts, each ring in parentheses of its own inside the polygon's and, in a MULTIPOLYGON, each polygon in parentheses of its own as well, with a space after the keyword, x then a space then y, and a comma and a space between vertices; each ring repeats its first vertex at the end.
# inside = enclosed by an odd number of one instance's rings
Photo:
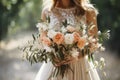
MULTIPOLYGON (((33 32, 35 33, 35 32, 33 32)), ((8 41, 1 41, 1 49, 4 50, 13 50, 16 49, 20 46, 25 45, 25 43, 27 43, 28 40, 32 39, 32 32, 23 32, 21 34, 15 35, 15 36, 11 36, 8 41)))

